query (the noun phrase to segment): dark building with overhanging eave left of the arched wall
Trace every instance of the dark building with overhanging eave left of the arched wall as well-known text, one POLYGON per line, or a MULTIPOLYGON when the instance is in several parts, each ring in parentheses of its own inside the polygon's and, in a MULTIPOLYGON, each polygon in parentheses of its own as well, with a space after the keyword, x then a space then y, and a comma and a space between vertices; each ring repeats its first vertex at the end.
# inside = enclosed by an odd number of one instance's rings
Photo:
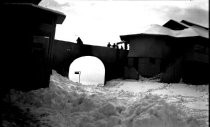
POLYGON ((65 15, 37 5, 40 0, 1 2, 1 91, 48 87, 56 24, 65 15))

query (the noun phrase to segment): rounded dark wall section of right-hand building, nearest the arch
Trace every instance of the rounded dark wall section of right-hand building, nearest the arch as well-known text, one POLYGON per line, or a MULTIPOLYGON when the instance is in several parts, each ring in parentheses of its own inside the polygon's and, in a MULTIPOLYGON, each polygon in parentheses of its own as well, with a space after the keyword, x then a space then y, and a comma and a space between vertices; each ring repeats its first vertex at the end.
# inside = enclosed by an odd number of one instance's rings
POLYGON ((131 69, 136 74, 130 73, 135 79, 138 75, 156 76, 165 69, 164 62, 168 62, 166 60, 170 54, 167 42, 170 42, 172 38, 163 35, 136 34, 121 36, 121 39, 129 42, 128 66, 134 67, 138 72, 136 73, 134 68, 131 69))

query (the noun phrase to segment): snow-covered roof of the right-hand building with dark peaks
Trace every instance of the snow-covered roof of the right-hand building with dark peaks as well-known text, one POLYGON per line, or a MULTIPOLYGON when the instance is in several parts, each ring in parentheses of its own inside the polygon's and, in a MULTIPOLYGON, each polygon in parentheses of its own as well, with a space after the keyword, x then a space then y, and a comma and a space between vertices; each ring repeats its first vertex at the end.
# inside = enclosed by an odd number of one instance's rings
POLYGON ((176 22, 174 20, 169 20, 163 26, 152 24, 152 25, 149 25, 147 29, 140 34, 121 35, 120 38, 123 41, 128 41, 130 38, 138 37, 145 34, 171 36, 171 37, 176 37, 176 38, 195 37, 195 36, 200 36, 207 39, 209 38, 208 28, 205 28, 196 24, 192 24, 192 23, 190 24, 190 26, 188 24, 190 23, 189 22, 186 23, 186 21, 176 22))

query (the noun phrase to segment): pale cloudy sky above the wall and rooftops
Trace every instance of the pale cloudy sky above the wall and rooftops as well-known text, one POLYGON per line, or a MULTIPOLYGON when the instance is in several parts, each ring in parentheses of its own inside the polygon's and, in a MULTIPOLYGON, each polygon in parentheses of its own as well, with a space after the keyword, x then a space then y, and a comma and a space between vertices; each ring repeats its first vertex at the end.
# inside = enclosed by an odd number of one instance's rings
POLYGON ((40 5, 66 15, 56 39, 75 42, 80 37, 91 45, 113 44, 120 35, 141 33, 169 19, 209 26, 208 0, 42 0, 40 5))

